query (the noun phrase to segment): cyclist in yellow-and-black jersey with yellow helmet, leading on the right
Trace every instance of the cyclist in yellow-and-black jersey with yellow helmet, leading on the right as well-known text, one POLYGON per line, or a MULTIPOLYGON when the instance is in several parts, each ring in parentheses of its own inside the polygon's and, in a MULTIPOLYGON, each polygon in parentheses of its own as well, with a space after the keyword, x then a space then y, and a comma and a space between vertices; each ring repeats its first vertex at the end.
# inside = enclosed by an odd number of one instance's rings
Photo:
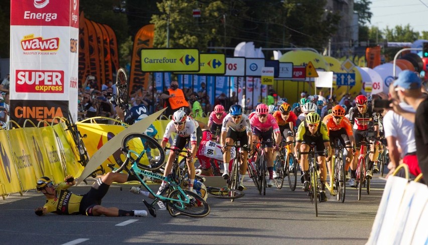
MULTIPOLYGON (((296 134, 296 145, 294 146, 294 156, 297 159, 299 151, 307 152, 309 151, 310 143, 314 142, 316 150, 318 151, 317 163, 319 166, 319 179, 322 183, 321 185, 321 199, 322 201, 327 201, 326 196, 326 155, 324 152, 327 149, 328 158, 332 154, 332 148, 330 147, 330 138, 329 130, 327 129, 326 124, 321 122, 321 118, 315 112, 310 112, 306 115, 306 120, 303 121, 297 130, 296 134)), ((303 171, 303 190, 309 190, 309 164, 307 160, 307 154, 301 154, 300 156, 300 168, 303 171)))

